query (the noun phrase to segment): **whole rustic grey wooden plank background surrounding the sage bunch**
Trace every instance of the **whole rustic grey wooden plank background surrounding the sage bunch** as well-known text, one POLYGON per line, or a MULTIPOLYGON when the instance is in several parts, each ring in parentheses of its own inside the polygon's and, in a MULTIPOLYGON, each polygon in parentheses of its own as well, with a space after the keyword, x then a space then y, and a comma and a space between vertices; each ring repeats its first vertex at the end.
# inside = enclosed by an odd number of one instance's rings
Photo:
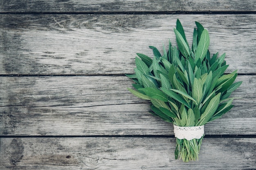
POLYGON ((255 49, 254 0, 0 0, 0 169, 256 169, 255 49), (175 44, 178 18, 243 81, 189 163, 124 75, 175 44))

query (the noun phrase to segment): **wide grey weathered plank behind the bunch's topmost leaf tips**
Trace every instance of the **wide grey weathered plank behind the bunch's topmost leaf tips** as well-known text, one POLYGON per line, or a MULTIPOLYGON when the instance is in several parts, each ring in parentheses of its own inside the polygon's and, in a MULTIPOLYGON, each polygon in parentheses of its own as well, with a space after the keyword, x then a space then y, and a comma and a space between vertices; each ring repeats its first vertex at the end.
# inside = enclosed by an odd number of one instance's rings
MULTIPOLYGON (((180 18, 192 40, 194 21, 210 33, 210 52, 226 52, 228 72, 256 73, 256 15, 2 15, 0 74, 127 74, 135 53, 152 57, 180 18)), ((162 52, 162 50, 161 50, 162 52)))

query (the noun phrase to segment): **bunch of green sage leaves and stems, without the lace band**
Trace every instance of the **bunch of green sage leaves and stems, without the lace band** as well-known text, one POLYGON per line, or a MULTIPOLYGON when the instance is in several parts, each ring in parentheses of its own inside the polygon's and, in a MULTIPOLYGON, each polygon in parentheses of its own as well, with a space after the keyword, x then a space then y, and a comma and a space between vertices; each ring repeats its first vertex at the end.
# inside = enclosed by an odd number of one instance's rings
MULTIPOLYGON (((224 74, 225 54, 218 57, 218 52, 210 57, 209 33, 195 22, 193 44, 189 48, 184 29, 177 20, 174 33, 177 46, 169 41, 168 52, 164 54, 149 46, 154 57, 137 53, 135 74, 127 75, 136 84, 128 90, 135 96, 150 100, 152 114, 173 123, 176 126, 202 126, 221 118, 234 105, 229 98, 242 82, 234 83, 237 70, 224 74)), ((175 159, 180 156, 183 161, 198 160, 200 139, 176 138, 175 159)))

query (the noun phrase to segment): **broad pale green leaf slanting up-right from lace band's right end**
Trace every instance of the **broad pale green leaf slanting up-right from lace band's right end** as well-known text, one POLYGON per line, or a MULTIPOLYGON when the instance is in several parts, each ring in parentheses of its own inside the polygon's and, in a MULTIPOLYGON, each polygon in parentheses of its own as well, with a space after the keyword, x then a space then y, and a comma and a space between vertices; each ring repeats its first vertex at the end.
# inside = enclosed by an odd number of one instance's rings
POLYGON ((202 126, 206 124, 211 119, 211 117, 213 116, 213 114, 218 108, 218 105, 220 102, 220 94, 221 93, 217 94, 211 99, 211 101, 209 102, 209 105, 206 107, 204 113, 200 117, 198 126, 202 126))

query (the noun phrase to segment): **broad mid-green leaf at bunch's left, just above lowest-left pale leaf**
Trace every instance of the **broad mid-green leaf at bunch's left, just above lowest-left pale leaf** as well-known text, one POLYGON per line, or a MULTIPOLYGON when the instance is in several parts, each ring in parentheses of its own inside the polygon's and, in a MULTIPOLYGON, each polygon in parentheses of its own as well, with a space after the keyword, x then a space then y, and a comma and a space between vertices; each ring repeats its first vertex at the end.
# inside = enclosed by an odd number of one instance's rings
POLYGON ((155 98, 157 100, 168 102, 166 94, 164 94, 159 89, 155 89, 155 88, 152 88, 152 87, 146 87, 146 88, 141 88, 141 89, 138 89, 138 90, 144 92, 150 98, 155 98))

